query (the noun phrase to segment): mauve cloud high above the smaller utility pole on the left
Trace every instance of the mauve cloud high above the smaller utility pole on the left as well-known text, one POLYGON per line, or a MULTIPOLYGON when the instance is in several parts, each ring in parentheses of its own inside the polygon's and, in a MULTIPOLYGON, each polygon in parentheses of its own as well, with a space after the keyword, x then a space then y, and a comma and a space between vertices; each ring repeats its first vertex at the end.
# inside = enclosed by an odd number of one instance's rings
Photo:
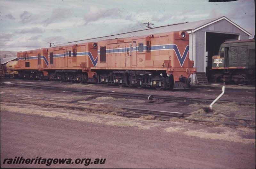
POLYGON ((58 22, 61 19, 66 18, 69 15, 70 15, 70 10, 67 8, 54 8, 52 10, 52 15, 50 16, 50 18, 47 18, 43 21, 44 26, 47 26, 54 22, 58 22))

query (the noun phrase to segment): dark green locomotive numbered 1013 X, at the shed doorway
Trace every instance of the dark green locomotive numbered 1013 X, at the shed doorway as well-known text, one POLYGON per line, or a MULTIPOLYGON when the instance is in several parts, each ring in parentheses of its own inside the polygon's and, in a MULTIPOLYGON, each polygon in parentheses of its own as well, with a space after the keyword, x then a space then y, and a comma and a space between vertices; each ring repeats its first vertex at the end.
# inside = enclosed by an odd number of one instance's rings
POLYGON ((255 83, 255 39, 222 43, 211 70, 213 81, 255 83))

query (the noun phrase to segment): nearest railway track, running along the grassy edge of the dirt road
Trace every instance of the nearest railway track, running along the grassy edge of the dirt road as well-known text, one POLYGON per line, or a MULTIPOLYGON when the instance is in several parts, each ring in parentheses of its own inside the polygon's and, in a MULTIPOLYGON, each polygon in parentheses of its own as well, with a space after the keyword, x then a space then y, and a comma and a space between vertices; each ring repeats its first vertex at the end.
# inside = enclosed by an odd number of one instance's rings
MULTIPOLYGON (((182 113, 182 112, 170 112, 170 111, 160 111, 160 110, 148 110, 148 109, 138 109, 138 108, 127 108, 127 107, 110 107, 110 106, 103 106, 99 104, 91 104, 91 103, 79 103, 79 102, 68 102, 68 101, 60 101, 60 100, 54 100, 54 99, 39 99, 39 98, 22 98, 22 97, 17 97, 17 96, 12 96, 12 99, 10 97, 2 96, 1 99, 4 99, 6 102, 20 102, 24 103, 32 103, 32 104, 37 104, 40 106, 52 106, 55 108, 65 108, 65 109, 79 109, 79 110, 90 110, 90 111, 101 111, 101 112, 115 112, 118 113, 119 116, 125 116, 125 117, 132 117, 132 118, 138 118, 140 116, 151 116, 152 119, 157 119, 157 120, 164 120, 164 121, 169 121, 171 118, 178 118, 178 119, 183 119, 183 120, 188 120, 188 121, 193 121, 193 122, 206 122, 206 123, 218 123, 218 124, 225 124, 225 125, 232 125, 232 126, 245 126, 245 127, 251 127, 255 128, 255 120, 252 119, 245 119, 245 118, 235 118, 235 117, 227 117, 227 116, 217 116, 217 115, 207 115, 207 114, 191 114, 191 113, 182 113), (13 98, 16 98, 13 100, 13 98), (31 101, 29 101, 31 99, 31 101), (36 102, 34 102, 37 100, 36 102), (51 103, 42 103, 38 101, 48 101, 51 103), (58 102, 62 104, 53 104, 52 102, 58 102), (65 103, 65 105, 63 105, 65 103), (67 105, 69 104, 69 105, 67 105), (84 107, 84 106, 90 106, 90 107, 84 107), (92 108, 93 107, 93 108, 92 108), (100 108, 99 108, 100 107, 100 108), (120 109, 120 110, 116 110, 120 109), (218 118, 219 121, 212 121, 212 120, 204 120, 204 119, 195 119, 195 118, 190 118, 191 115, 194 115, 196 117, 214 117, 218 118), (232 123, 230 122, 223 122, 223 119, 228 119, 231 120, 232 123), (241 123, 242 121, 242 123, 241 123), (239 123, 240 122, 240 123, 239 123), (254 123, 254 124, 252 124, 254 123)), ((3 101, 3 100, 2 100, 3 101)))

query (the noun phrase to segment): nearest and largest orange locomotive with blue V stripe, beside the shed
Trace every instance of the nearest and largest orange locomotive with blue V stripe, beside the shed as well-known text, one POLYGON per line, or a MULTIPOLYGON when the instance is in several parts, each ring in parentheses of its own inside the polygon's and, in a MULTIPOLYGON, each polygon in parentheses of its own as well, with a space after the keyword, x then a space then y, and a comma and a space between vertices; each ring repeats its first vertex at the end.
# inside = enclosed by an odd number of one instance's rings
POLYGON ((99 82, 156 89, 190 88, 196 73, 189 60, 189 34, 185 31, 98 42, 96 72, 99 82))

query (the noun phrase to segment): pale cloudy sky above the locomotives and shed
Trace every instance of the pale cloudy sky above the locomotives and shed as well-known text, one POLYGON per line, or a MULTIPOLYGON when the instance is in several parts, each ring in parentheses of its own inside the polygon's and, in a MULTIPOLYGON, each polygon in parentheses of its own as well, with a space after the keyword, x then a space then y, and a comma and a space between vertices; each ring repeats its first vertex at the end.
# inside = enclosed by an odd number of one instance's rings
POLYGON ((226 16, 255 35, 254 0, 0 0, 0 50, 27 51, 226 16))

